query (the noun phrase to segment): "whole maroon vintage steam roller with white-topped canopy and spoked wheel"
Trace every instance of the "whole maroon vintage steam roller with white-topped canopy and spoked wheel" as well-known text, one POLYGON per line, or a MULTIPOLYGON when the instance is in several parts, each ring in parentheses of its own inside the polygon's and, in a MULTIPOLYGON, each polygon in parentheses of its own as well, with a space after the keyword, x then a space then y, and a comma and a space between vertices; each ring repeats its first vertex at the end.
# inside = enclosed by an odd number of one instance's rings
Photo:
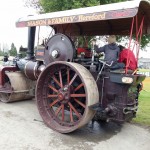
POLYGON ((150 34, 149 20, 147 0, 19 19, 17 27, 28 27, 27 56, 16 59, 13 66, 0 67, 0 100, 13 102, 35 95, 44 123, 60 133, 72 132, 93 117, 106 122, 130 121, 136 117, 145 75, 138 74, 137 67, 129 69, 129 58, 125 68, 111 69, 113 63, 101 60, 93 48, 79 47, 75 39, 128 35, 131 49, 134 34, 138 63, 142 34, 150 34), (37 26, 51 27, 53 35, 35 46, 37 26))

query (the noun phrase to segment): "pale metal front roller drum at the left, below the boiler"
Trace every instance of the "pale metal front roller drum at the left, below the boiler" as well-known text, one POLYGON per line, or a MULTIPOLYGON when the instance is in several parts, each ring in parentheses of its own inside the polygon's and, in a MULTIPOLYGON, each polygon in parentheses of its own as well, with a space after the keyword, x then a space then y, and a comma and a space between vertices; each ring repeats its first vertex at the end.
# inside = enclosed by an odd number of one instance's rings
POLYGON ((20 72, 6 72, 3 90, 0 89, 0 100, 5 103, 22 101, 34 97, 34 82, 20 72))

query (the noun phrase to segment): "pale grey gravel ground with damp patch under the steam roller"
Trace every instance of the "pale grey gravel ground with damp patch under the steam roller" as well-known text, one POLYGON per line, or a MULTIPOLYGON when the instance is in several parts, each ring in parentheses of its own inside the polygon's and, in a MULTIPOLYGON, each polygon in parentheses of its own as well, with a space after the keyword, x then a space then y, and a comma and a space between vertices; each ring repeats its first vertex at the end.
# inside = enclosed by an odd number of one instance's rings
POLYGON ((35 101, 0 102, 0 150, 150 150, 150 131, 126 123, 91 122, 73 133, 47 128, 35 101))

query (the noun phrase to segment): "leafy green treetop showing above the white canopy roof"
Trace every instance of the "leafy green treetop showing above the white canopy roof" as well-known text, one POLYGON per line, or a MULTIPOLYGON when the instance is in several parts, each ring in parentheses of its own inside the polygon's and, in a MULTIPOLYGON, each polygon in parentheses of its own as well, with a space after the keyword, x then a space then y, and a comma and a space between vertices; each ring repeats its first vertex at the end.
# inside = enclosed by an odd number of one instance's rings
POLYGON ((116 3, 126 0, 26 0, 26 6, 38 9, 40 12, 55 12, 74 8, 89 7, 116 3))

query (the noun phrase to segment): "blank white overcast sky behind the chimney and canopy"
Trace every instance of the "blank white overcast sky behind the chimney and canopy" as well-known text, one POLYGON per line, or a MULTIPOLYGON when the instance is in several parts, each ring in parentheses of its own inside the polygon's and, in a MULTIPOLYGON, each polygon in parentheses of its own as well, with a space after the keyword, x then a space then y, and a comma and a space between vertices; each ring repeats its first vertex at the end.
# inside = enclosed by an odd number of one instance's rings
MULTIPOLYGON (((15 22, 24 16, 36 14, 33 8, 27 8, 25 0, 3 0, 0 2, 0 45, 14 43, 17 49, 22 45, 27 46, 28 31, 27 28, 16 28, 15 22)), ((147 52, 140 51, 139 57, 150 58, 150 47, 147 52)))

